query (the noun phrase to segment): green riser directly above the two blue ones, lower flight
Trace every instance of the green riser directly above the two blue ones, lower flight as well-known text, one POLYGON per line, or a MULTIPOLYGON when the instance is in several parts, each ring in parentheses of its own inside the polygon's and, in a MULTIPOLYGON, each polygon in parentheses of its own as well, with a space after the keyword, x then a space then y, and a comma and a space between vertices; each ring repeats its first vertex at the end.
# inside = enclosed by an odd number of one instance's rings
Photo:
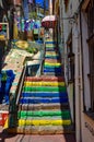
POLYGON ((55 86, 55 87, 50 87, 50 86, 24 86, 23 87, 23 92, 67 92, 67 87, 64 86, 55 86))

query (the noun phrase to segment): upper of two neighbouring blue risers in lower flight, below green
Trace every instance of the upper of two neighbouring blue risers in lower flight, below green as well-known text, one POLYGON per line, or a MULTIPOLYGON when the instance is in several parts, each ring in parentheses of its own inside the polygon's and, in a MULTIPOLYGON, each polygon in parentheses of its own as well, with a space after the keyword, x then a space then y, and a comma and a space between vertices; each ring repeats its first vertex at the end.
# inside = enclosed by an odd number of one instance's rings
POLYGON ((22 97, 67 97, 67 93, 47 93, 47 92, 30 92, 30 93, 22 93, 22 97))

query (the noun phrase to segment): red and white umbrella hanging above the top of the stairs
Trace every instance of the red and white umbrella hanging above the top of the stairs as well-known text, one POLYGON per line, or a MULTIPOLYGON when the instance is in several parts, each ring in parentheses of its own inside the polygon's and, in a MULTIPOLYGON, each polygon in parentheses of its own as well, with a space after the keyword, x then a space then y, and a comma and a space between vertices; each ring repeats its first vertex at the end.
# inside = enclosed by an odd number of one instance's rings
POLYGON ((54 28, 56 26, 56 15, 47 15, 42 20, 42 26, 47 28, 54 28))

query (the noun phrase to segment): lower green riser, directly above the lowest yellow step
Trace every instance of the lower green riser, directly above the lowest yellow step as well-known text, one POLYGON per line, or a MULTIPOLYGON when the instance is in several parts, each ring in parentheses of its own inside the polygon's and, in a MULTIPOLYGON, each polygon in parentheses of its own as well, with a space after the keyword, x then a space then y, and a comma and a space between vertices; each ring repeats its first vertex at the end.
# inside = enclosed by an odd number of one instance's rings
POLYGON ((70 111, 61 111, 61 110, 38 110, 38 111, 19 111, 17 113, 19 118, 24 117, 44 117, 44 116, 61 116, 62 118, 70 118, 70 111))

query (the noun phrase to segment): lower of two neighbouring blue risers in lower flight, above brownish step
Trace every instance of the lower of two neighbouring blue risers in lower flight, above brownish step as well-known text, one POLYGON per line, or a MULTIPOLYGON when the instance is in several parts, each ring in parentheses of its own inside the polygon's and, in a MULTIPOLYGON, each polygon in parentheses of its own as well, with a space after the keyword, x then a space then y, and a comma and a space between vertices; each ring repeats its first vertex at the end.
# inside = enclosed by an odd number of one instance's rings
POLYGON ((20 104, 49 104, 49 103, 68 103, 68 98, 31 98, 31 97, 24 97, 20 98, 20 104))

